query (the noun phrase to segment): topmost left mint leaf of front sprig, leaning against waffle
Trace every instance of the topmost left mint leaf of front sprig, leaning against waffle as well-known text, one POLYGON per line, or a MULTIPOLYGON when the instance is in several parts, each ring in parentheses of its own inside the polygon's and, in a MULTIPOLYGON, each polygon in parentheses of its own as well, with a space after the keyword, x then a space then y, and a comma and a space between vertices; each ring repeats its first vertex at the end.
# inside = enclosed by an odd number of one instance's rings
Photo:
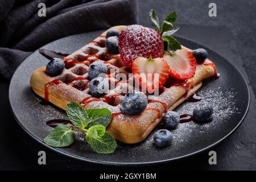
POLYGON ((82 107, 77 102, 69 102, 67 105, 68 118, 73 125, 79 129, 84 129, 87 124, 87 113, 84 107, 82 107))

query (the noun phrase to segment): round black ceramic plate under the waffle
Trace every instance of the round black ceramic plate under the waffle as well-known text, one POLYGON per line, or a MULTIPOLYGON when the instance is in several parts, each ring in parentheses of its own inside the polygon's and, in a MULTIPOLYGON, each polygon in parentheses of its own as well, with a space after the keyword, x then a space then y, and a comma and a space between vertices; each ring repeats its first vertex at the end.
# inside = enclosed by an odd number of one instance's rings
MULTIPOLYGON (((57 40, 44 46, 44 48, 59 52, 72 53, 84 44, 101 34, 102 31, 94 31, 85 34, 73 35, 57 40)), ((207 150, 224 140, 243 121, 249 107, 249 89, 245 79, 228 60, 214 52, 212 49, 185 38, 177 37, 180 42, 189 48, 205 48, 209 58, 217 65, 220 78, 213 81, 205 81, 199 93, 203 101, 211 102, 214 107, 213 121, 204 125, 194 122, 182 123, 174 131, 174 143, 172 146, 159 149, 153 145, 152 135, 155 130, 141 143, 123 144, 118 142, 117 150, 111 155, 100 155, 83 142, 83 137, 78 136, 74 144, 67 148, 51 148, 61 154, 93 163, 105 164, 146 164, 160 163, 184 158, 198 152, 207 150)), ((35 51, 16 70, 9 90, 10 104, 19 125, 31 135, 42 142, 43 138, 52 130, 46 125, 49 119, 66 118, 65 112, 53 105, 42 105, 39 98, 32 92, 29 81, 32 72, 48 60, 35 51)), ((199 102, 184 102, 177 107, 180 114, 192 114, 192 109, 199 102)), ((158 126, 156 130, 161 128, 158 126)), ((45 145, 45 144, 44 144, 45 145)), ((48 147, 48 146, 47 146, 48 147)))

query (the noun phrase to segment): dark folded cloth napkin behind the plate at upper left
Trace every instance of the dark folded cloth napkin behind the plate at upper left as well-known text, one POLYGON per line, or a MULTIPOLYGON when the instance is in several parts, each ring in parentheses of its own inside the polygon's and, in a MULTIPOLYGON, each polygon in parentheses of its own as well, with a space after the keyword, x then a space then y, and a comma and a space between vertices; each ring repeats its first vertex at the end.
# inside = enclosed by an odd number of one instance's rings
POLYGON ((0 78, 9 80, 31 52, 68 35, 135 24, 137 0, 0 1, 0 78), (38 4, 46 4, 46 17, 38 4))

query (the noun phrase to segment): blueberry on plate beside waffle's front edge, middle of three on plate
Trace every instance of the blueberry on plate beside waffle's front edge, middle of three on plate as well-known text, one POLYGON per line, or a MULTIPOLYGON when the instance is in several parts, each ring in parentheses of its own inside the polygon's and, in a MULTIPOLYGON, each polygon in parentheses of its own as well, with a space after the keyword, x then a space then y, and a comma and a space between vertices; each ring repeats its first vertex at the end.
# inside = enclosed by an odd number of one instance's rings
POLYGON ((163 122, 168 130, 174 130, 180 123, 180 115, 175 111, 168 111, 163 117, 163 122))

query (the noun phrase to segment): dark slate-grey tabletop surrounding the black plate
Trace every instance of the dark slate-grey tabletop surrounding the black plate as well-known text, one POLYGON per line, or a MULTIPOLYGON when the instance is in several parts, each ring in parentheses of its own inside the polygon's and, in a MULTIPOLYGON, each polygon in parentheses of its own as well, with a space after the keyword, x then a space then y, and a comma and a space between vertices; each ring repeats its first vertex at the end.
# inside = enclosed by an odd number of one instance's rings
MULTIPOLYGON (((221 53, 245 76, 251 95, 251 105, 245 121, 224 142, 212 148, 217 152, 217 165, 208 164, 208 151, 177 162, 147 166, 143 169, 256 169, 255 96, 255 31, 256 2, 248 1, 153 1, 139 0, 139 23, 151 26, 148 11, 155 9, 162 20, 171 11, 178 14, 177 35, 185 36, 221 53), (208 16, 210 2, 217 4, 217 17, 208 16)), ((2 125, 0 127, 0 169, 125 169, 79 162, 56 154, 41 146, 16 124, 7 98, 8 84, 0 83, 2 125), (38 151, 47 153, 47 165, 37 163, 38 151)), ((22 98, 20 98, 22 99, 22 98)), ((131 169, 131 168, 130 168, 131 169)))

